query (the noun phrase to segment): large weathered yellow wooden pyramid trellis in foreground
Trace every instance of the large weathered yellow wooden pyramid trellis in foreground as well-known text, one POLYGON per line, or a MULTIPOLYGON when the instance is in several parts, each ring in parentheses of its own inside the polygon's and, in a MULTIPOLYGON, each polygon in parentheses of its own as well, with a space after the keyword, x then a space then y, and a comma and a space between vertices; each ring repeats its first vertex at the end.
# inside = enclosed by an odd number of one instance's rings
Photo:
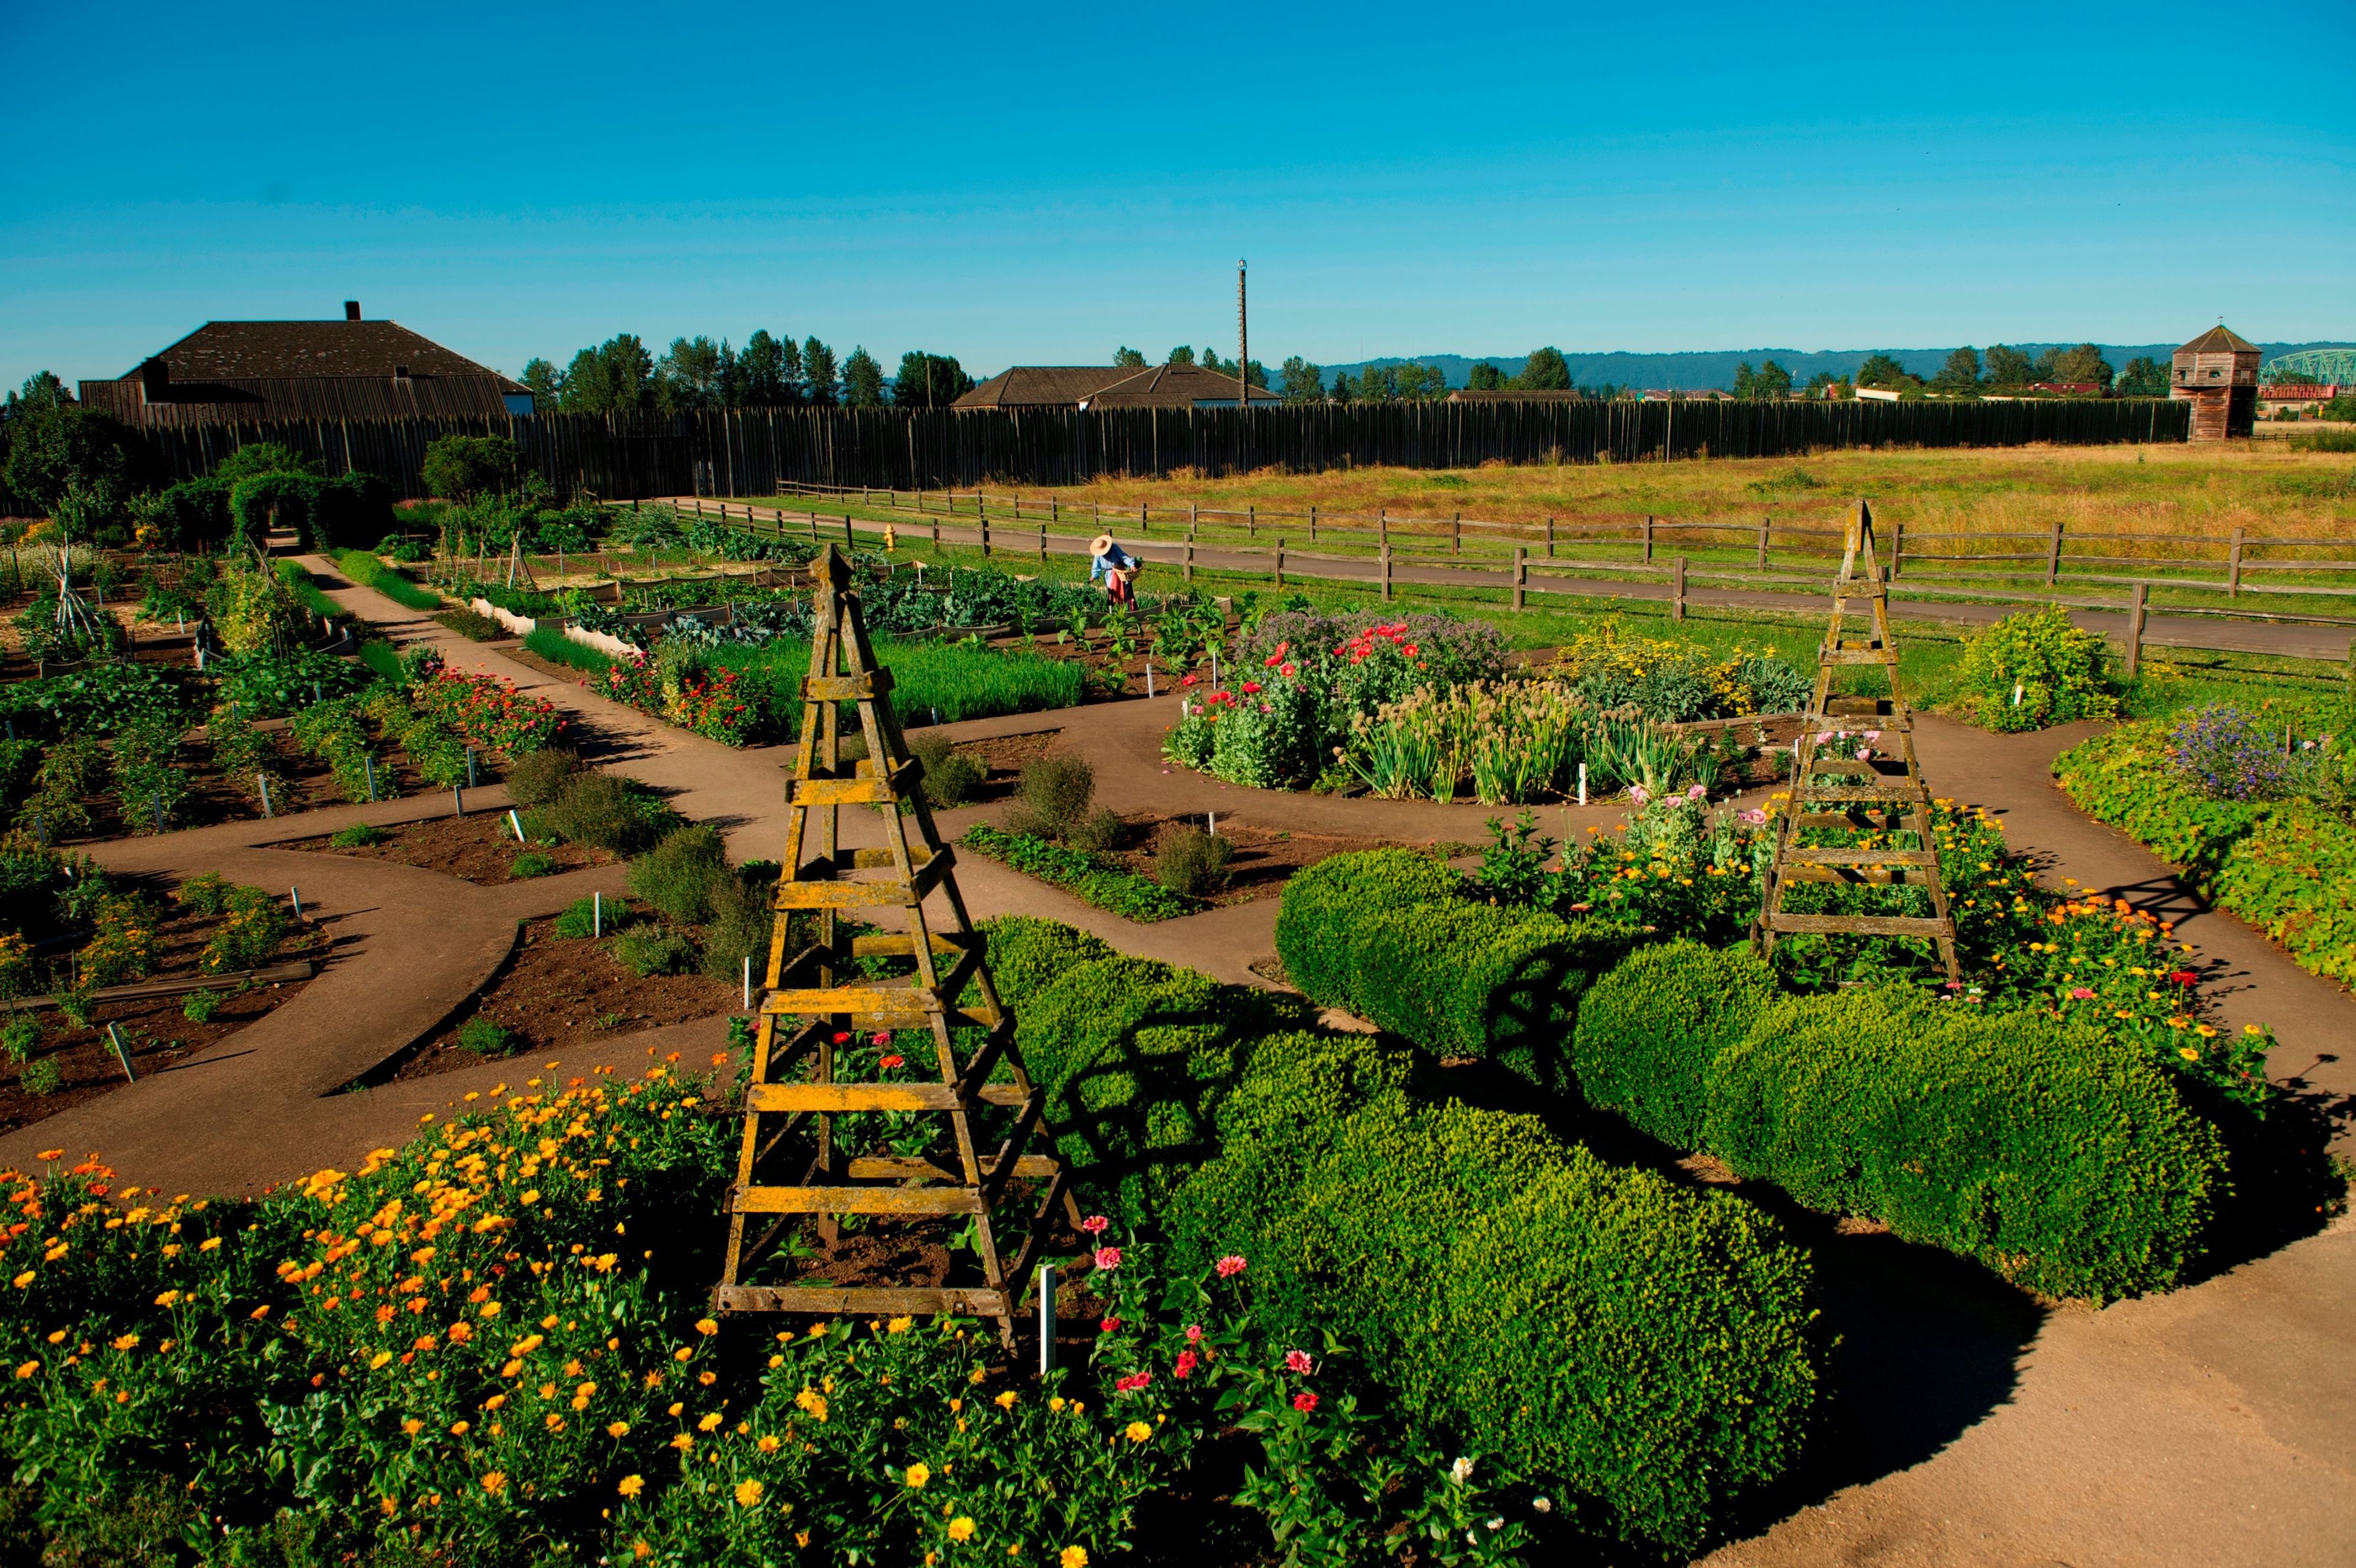
MULTIPOLYGON (((1041 1090, 1015 1048, 1015 1019, 999 1003, 982 956, 985 939, 966 918, 954 878, 954 852, 940 843, 919 779, 924 765, 907 751, 893 716, 891 671, 876 664, 851 591, 851 563, 827 546, 813 567, 810 676, 803 680, 801 756, 787 786, 785 873, 773 902, 766 998, 754 1031, 744 1081, 744 1144, 728 1189, 728 1257, 714 1290, 719 1311, 806 1314, 973 1314, 999 1321, 1013 1344, 1015 1307, 1034 1248, 1058 1203, 1077 1227, 1079 1210, 1053 1156, 1025 1154, 1039 1128, 1041 1090), (841 704, 858 704, 867 758, 843 760, 841 704), (841 810, 858 810, 884 833, 884 848, 853 850, 841 841, 841 810), (858 871, 881 871, 862 881, 858 871), (938 892, 947 921, 926 913, 938 892), (900 911, 902 932, 853 935, 853 909, 900 911), (815 935, 789 954, 792 916, 806 911, 815 935), (855 961, 907 958, 905 979, 865 979, 855 961), (973 989, 973 1005, 964 996, 973 989), (839 1036, 924 1029, 940 1071, 938 1083, 843 1081, 839 1036), (959 1055, 959 1029, 980 1031, 959 1055), (801 1069, 808 1067, 803 1074, 801 1069), (945 1118, 947 1140, 924 1156, 848 1151, 839 1118, 862 1111, 926 1111, 945 1118), (997 1116, 1004 1137, 994 1151, 978 1142, 978 1121, 997 1116), (777 1180, 780 1168, 789 1172, 777 1180), (1013 1253, 997 1212, 1008 1182, 1039 1194, 1013 1253), (832 1243, 841 1215, 973 1222, 980 1285, 754 1285, 744 1283, 799 1217, 815 1215, 832 1243), (747 1243, 747 1220, 763 1231, 747 1243)), ((921 1048, 909 1050, 916 1059, 921 1048)))

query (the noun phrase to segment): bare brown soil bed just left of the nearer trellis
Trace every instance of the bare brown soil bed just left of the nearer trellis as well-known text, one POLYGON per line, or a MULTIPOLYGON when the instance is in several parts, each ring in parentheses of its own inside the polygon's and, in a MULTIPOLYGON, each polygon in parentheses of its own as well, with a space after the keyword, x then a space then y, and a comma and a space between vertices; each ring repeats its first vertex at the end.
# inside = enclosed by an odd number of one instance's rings
POLYGON ((737 1012, 742 1001, 737 986, 704 975, 634 975, 613 956, 613 937, 558 937, 556 921, 528 921, 514 956, 476 1005, 368 1081, 431 1078, 481 1064, 483 1057, 457 1043, 471 1017, 504 1026, 516 1041, 514 1055, 525 1055, 737 1012))

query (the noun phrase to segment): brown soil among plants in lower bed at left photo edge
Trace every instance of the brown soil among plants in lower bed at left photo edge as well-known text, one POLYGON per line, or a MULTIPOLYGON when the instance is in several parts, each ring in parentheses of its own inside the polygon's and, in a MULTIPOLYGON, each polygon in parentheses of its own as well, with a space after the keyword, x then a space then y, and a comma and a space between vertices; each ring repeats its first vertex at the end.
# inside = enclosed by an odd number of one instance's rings
MULTIPOLYGON (((212 921, 181 913, 170 904, 165 909, 170 918, 158 925, 163 958, 148 979, 196 975, 196 961, 212 935, 212 921)), ((323 961, 332 946, 335 939, 323 928, 299 925, 271 963, 290 963, 294 958, 323 961)), ((24 1090, 24 1064, 0 1052, 0 1132, 28 1128, 85 1099, 97 1099, 123 1088, 123 1062, 106 1038, 106 1024, 113 1024, 115 1034, 123 1036, 123 1045, 130 1048, 132 1069, 146 1078, 203 1057, 254 1019, 292 1001, 304 984, 309 982, 280 982, 238 991, 231 982, 224 982, 219 986, 221 1003, 203 1024, 184 1012, 186 996, 101 1003, 92 1012, 87 1029, 57 1008, 42 1008, 35 1015, 42 1041, 33 1059, 54 1057, 64 1071, 64 1083, 54 1092, 31 1095, 24 1090)))

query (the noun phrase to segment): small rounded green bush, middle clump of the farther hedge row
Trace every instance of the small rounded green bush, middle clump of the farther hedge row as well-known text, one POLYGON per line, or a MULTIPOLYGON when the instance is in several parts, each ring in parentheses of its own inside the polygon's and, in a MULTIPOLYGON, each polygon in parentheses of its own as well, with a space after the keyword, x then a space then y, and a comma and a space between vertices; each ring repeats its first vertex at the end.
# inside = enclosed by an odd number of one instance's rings
POLYGON ((1579 1003, 1579 1092, 1663 1144, 1699 1149, 1710 1062, 1769 1001, 1774 975, 1748 949, 1640 946, 1579 1003))

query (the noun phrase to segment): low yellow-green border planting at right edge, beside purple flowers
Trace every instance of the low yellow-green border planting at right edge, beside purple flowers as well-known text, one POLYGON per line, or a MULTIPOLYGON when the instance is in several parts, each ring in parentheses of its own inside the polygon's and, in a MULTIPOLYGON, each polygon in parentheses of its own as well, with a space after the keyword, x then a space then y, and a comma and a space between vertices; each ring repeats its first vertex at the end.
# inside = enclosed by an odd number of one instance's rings
POLYGON ((2078 810, 2182 869, 2299 963, 2356 984, 2356 826, 2307 800, 2210 800, 2168 763, 2175 718, 2120 725, 2054 758, 2078 810))

